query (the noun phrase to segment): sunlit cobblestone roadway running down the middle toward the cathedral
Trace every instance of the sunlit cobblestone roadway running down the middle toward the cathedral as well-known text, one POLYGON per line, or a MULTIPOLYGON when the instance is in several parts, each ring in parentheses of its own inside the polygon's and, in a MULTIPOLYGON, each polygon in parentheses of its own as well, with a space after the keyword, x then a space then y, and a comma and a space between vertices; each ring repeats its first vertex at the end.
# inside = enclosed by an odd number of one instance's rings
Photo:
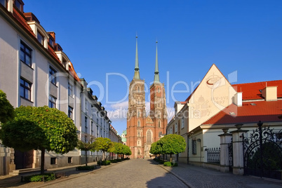
POLYGON ((117 163, 48 187, 187 187, 168 171, 145 159, 117 163))

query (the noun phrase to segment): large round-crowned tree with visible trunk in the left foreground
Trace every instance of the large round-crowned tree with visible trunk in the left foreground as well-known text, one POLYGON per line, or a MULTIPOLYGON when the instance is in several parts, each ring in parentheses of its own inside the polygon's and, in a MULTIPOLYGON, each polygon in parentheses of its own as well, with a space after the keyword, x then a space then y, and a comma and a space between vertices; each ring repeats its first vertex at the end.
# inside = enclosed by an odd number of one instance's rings
POLYGON ((44 173, 45 150, 57 154, 72 151, 78 142, 76 126, 67 114, 44 107, 18 107, 15 119, 1 125, 1 140, 6 147, 22 152, 41 150, 41 174, 44 173))

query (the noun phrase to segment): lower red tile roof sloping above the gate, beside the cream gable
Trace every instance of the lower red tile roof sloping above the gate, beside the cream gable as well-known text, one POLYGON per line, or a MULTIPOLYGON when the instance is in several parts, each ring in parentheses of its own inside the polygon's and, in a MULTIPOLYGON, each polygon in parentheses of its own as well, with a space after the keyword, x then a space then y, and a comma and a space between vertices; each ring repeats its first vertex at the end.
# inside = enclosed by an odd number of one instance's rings
POLYGON ((282 100, 243 102, 242 107, 237 107, 234 104, 229 105, 202 125, 256 123, 258 121, 277 122, 282 121, 278 118, 281 114, 282 100), (231 115, 231 112, 235 114, 231 115))

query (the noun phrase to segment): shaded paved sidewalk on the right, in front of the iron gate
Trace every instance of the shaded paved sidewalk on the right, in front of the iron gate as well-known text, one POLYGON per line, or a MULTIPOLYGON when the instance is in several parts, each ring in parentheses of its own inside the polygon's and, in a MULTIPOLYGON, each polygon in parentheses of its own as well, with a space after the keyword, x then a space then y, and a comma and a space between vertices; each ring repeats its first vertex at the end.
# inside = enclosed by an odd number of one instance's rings
POLYGON ((161 168, 173 173, 191 188, 282 188, 282 180, 260 178, 250 175, 233 175, 232 173, 221 173, 218 170, 202 168, 199 166, 179 163, 177 167, 159 165, 161 168))

